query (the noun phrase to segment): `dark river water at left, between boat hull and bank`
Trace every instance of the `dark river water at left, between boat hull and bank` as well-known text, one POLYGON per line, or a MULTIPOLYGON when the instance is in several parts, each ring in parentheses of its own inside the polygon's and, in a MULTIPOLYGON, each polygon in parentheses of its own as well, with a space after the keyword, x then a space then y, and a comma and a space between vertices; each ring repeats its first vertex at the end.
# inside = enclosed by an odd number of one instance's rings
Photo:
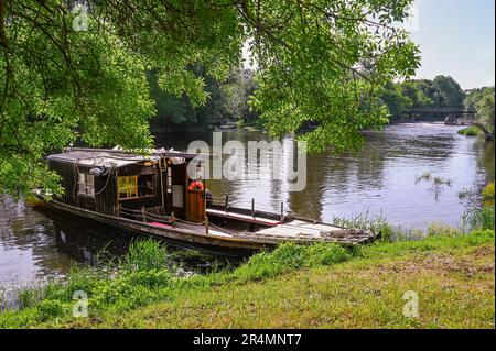
POLYGON ((74 262, 96 264, 97 253, 107 248, 121 254, 128 241, 44 210, 34 210, 9 197, 0 197, 0 283, 64 275, 74 262))

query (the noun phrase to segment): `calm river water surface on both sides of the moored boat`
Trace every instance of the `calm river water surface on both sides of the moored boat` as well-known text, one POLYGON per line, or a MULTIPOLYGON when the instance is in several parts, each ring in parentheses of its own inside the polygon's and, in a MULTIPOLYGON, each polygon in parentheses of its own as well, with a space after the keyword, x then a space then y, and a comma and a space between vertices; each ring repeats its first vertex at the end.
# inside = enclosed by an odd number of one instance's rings
MULTIPOLYGON (((425 228, 433 221, 457 226, 478 200, 475 194, 495 176, 494 143, 457 135, 459 129, 416 123, 366 132, 358 153, 309 156, 306 189, 301 193, 288 193, 284 182, 266 177, 267 165, 260 165, 260 179, 209 180, 208 188, 214 196, 229 194, 235 205, 249 207, 254 198, 257 208, 278 212, 283 202, 287 210, 324 221, 368 212, 405 228, 425 228), (425 173, 450 185, 416 182, 425 173)), ((190 141, 211 139, 211 133, 174 134, 159 139, 158 146, 185 150, 190 141)), ((261 132, 242 131, 224 132, 223 140, 270 141, 261 132)), ((282 168, 291 145, 291 139, 283 141, 278 155, 282 168)), ((126 252, 130 239, 0 196, 0 285, 64 275, 74 262, 94 264, 103 248, 126 252)))

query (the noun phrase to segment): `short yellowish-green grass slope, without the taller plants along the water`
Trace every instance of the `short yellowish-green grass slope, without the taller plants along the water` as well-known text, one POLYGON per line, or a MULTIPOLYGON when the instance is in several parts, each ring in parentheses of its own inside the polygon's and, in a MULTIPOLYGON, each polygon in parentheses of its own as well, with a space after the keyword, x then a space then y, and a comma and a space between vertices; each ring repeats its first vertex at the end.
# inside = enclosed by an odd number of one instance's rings
POLYGON ((439 240, 430 245, 376 248, 368 257, 348 263, 194 290, 123 316, 61 326, 494 328, 494 235, 472 235, 477 237, 472 242, 439 240), (403 316, 407 292, 418 294, 418 318, 403 316))

